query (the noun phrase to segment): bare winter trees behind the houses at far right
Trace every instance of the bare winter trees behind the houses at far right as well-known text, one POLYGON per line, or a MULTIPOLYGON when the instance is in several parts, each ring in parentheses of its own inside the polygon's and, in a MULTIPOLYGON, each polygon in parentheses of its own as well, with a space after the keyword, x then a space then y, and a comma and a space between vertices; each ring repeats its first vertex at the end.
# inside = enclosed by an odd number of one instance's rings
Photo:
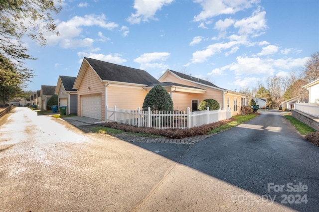
POLYGON ((243 87, 240 93, 251 97, 267 99, 267 106, 279 107, 281 103, 299 97, 304 102, 309 92, 303 86, 319 79, 319 52, 311 55, 301 70, 293 70, 286 77, 268 77, 265 84, 258 82, 256 87, 243 87))

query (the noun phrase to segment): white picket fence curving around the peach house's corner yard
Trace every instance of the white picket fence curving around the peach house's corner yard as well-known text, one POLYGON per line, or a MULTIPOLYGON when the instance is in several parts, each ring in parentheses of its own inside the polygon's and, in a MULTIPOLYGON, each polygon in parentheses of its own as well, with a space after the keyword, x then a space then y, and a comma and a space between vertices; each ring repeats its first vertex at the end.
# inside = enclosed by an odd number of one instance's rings
POLYGON ((187 107, 187 111, 151 111, 119 109, 106 109, 107 121, 114 121, 121 124, 127 124, 137 127, 153 127, 153 128, 191 128, 204 124, 214 123, 220 120, 231 118, 231 109, 218 109, 191 112, 187 107))

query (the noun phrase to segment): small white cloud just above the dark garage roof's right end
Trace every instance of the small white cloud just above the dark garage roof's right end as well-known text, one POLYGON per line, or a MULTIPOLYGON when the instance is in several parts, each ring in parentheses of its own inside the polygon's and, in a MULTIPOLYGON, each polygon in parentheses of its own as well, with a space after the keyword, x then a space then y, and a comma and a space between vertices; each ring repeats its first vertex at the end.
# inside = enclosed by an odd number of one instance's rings
POLYGON ((162 63, 157 63, 156 61, 165 61, 170 53, 168 52, 153 52, 145 53, 140 57, 134 59, 134 62, 140 63, 140 69, 147 68, 158 68, 158 69, 167 69, 167 65, 162 63))

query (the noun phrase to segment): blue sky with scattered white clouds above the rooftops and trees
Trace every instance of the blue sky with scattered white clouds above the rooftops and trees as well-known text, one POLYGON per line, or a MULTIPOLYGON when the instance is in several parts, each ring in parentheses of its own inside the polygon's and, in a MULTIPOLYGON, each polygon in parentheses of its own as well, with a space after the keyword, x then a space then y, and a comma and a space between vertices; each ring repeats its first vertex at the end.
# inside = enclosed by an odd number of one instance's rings
POLYGON ((228 90, 300 70, 319 51, 318 0, 65 0, 59 36, 25 38, 37 75, 26 90, 76 77, 83 57, 186 71, 228 90))

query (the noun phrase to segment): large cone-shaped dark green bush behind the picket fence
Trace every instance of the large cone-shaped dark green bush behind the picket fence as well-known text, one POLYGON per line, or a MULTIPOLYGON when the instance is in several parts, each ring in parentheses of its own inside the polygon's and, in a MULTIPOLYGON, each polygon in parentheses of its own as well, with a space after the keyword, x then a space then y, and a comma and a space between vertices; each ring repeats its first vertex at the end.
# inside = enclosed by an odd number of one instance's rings
POLYGON ((143 110, 148 107, 151 107, 152 111, 173 111, 173 101, 161 85, 156 85, 144 99, 143 110))

